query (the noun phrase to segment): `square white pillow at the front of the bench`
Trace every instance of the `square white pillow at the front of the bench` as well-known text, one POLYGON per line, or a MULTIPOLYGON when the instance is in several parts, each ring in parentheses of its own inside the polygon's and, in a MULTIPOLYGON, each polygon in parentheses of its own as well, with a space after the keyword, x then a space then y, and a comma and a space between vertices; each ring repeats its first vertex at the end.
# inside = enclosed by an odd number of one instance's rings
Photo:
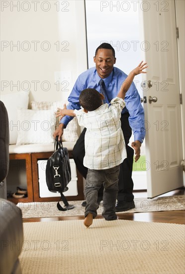
POLYGON ((16 144, 54 142, 53 110, 17 110, 18 137, 16 144))

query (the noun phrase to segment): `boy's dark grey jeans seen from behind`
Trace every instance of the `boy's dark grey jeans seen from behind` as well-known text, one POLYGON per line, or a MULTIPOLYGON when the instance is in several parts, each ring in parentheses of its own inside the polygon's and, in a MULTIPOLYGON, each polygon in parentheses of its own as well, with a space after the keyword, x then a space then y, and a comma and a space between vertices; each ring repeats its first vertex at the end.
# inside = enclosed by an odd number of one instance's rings
POLYGON ((86 187, 84 190, 87 202, 85 217, 89 213, 92 213, 93 218, 97 216, 97 209, 99 207, 97 203, 97 192, 103 184, 102 216, 107 221, 117 219, 115 214, 115 203, 118 192, 119 167, 120 165, 102 170, 88 169, 86 187))

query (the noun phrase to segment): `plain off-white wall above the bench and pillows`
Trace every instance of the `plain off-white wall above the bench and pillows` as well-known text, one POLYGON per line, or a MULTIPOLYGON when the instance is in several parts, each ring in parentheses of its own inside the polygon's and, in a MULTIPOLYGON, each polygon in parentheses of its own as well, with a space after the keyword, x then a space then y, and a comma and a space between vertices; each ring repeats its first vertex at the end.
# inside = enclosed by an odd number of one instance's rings
POLYGON ((30 101, 66 100, 87 69, 84 0, 0 2, 1 94, 30 87, 30 101), (56 71, 69 85, 54 84, 56 71))

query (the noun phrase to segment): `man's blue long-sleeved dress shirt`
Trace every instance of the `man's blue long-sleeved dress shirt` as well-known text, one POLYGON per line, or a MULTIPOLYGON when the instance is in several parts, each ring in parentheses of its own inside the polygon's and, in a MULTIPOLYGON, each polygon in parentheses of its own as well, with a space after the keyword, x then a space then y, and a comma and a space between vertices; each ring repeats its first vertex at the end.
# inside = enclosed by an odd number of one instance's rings
MULTIPOLYGON (((123 71, 113 67, 111 74, 107 78, 103 79, 106 88, 106 103, 110 103, 110 101, 117 96, 126 77, 127 75, 123 71)), ((67 109, 79 110, 81 108, 79 104, 79 96, 84 89, 93 88, 100 92, 100 80, 101 78, 98 76, 95 67, 90 68, 79 75, 73 90, 68 97, 69 104, 67 109)), ((129 125, 133 131, 134 140, 143 142, 145 137, 144 110, 141 105, 141 98, 134 83, 131 84, 124 100, 126 108, 123 109, 122 114, 129 112, 129 125)), ((67 126, 72 119, 73 117, 65 116, 61 119, 60 123, 67 126)))

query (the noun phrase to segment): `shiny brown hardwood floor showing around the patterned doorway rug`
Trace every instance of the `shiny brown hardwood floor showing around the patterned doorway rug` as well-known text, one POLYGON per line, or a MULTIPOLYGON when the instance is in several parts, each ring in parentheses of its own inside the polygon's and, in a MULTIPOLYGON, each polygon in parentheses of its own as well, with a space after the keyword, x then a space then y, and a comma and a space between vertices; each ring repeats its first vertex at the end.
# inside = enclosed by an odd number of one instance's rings
MULTIPOLYGON (((183 195, 185 189, 178 189, 166 194, 160 195, 173 196, 183 195)), ((134 192, 135 198, 147 198, 146 192, 137 191, 134 192)), ((120 220, 131 220, 141 222, 158 222, 158 223, 172 223, 172 224, 185 224, 185 210, 176 211, 160 211, 160 212, 144 212, 144 213, 117 213, 118 219, 120 220)), ((52 218, 26 218, 23 219, 23 223, 27 222, 52 222, 52 221, 64 221, 64 220, 83 220, 83 216, 72 216, 72 217, 52 217, 52 218)), ((102 219, 102 216, 97 216, 97 219, 102 219)))

